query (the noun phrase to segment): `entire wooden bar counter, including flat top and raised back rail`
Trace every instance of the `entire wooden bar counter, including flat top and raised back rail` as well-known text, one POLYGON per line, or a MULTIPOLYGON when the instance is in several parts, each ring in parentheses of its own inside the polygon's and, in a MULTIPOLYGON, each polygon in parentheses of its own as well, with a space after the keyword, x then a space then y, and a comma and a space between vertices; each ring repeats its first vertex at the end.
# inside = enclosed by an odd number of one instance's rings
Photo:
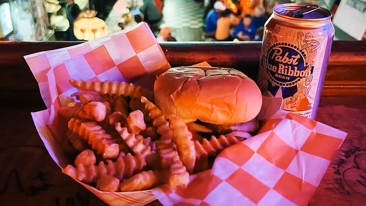
MULTIPOLYGON (((0 205, 106 205, 61 173, 38 136, 31 112, 44 110, 23 56, 80 42, 0 41, 0 205)), ((207 61, 257 79, 260 43, 161 43, 172 67, 207 61)), ((310 206, 366 205, 366 41, 334 41, 317 121, 348 133, 310 206)), ((153 201, 149 206, 161 205, 153 201)))

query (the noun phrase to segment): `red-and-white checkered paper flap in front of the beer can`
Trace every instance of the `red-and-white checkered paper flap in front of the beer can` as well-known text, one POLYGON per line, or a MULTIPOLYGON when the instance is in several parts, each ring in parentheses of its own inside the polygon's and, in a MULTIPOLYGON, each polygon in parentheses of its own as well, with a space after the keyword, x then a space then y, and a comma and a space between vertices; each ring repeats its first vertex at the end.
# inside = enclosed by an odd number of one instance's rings
POLYGON ((163 205, 305 206, 346 136, 278 111, 258 135, 221 152, 212 170, 197 174, 185 190, 164 186, 152 192, 163 205))

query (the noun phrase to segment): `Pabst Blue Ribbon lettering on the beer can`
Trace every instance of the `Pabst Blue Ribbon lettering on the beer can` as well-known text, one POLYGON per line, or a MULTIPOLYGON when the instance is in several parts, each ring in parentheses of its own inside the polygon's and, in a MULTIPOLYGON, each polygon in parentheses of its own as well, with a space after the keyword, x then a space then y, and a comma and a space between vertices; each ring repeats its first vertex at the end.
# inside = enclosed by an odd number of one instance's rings
POLYGON ((307 77, 310 74, 310 70, 308 71, 300 71, 298 70, 298 59, 300 58, 300 55, 289 55, 288 52, 283 52, 281 48, 279 47, 273 47, 272 55, 263 56, 262 57, 262 66, 264 66, 267 70, 273 71, 276 74, 276 77, 283 78, 285 80, 290 80, 289 77, 286 76, 293 76, 293 77, 307 77), (284 54, 283 54, 284 53, 284 54), (271 65, 268 62, 268 58, 275 60, 278 62, 278 67, 276 65, 271 65), (286 76, 282 76, 282 75, 286 76))

